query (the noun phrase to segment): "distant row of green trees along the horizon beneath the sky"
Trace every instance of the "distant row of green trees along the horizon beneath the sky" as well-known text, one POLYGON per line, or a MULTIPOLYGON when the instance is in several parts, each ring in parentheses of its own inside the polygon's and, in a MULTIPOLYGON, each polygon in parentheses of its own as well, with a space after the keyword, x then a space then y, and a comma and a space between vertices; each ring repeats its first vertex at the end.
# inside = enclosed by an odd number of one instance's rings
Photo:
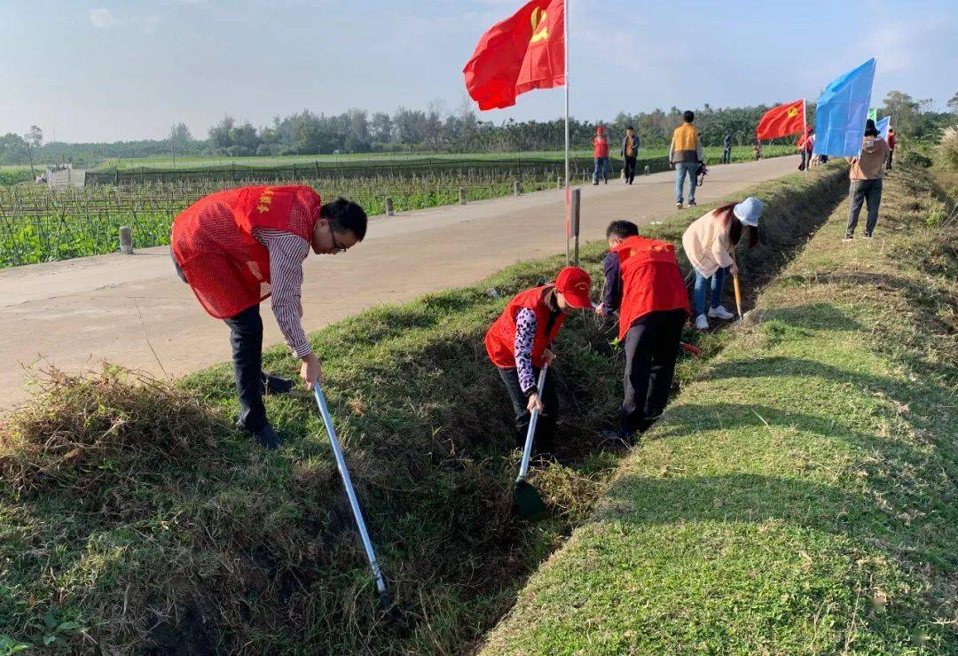
MULTIPOLYGON (((931 100, 915 100, 901 91, 891 91, 884 99, 883 115, 905 138, 937 139, 941 128, 958 121, 958 93, 947 102, 950 112, 930 109, 931 100)), ((750 144, 755 126, 768 105, 713 108, 705 104, 696 110, 696 125, 706 146, 719 146, 726 134, 738 144, 750 144)), ((809 122, 814 105, 809 106, 809 122)), ((628 124, 634 125, 645 147, 668 146, 674 127, 681 121, 681 110, 655 109, 651 112, 620 112, 612 121, 600 122, 613 135, 621 135, 628 124)), ((572 145, 588 148, 599 123, 572 121, 572 145)), ((288 155, 334 152, 512 152, 559 150, 564 144, 564 128, 554 121, 502 123, 481 120, 468 99, 455 111, 447 111, 443 102, 430 102, 426 109, 399 107, 392 114, 369 113, 351 109, 338 115, 314 114, 308 109, 285 118, 276 117, 271 125, 256 127, 239 123, 230 116, 209 129, 208 139, 194 139, 185 124, 171 128, 170 137, 160 140, 115 142, 112 144, 43 144, 43 131, 31 126, 25 135, 8 133, 0 137, 0 163, 69 162, 90 166, 106 158, 134 158, 176 155, 288 155)))

